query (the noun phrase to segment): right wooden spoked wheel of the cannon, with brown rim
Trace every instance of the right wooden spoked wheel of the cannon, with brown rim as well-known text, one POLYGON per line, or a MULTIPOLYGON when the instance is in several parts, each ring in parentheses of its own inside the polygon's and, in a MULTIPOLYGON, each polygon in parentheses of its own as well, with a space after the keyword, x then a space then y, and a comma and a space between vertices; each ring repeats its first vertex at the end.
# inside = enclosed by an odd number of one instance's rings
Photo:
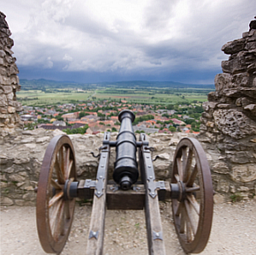
POLYGON ((213 189, 205 151, 197 139, 184 138, 176 147, 171 184, 179 187, 172 198, 176 233, 183 250, 199 253, 211 233, 213 189))

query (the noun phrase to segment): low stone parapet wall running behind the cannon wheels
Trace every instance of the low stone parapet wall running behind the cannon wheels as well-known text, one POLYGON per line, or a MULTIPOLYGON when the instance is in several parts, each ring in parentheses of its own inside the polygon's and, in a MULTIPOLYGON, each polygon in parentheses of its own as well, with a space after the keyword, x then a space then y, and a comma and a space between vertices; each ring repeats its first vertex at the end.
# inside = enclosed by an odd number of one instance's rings
MULTIPOLYGON (((23 131, 18 135, 0 137, 1 169, 1 204, 35 205, 34 188, 39 181, 41 163, 50 140, 62 131, 54 132, 43 128, 23 131)), ((111 133, 111 140, 116 140, 117 133, 111 133)), ((176 145, 185 133, 155 133, 148 136, 150 145, 155 148, 152 157, 159 156, 153 163, 158 180, 170 179, 170 169, 176 145)), ((189 134, 193 136, 193 134, 189 134)), ((91 151, 98 154, 102 145, 103 133, 69 135, 74 145, 76 166, 79 180, 94 179, 98 169, 98 158, 92 157, 91 151)), ((139 139, 139 136, 137 137, 139 139)), ((111 148, 109 179, 112 179, 116 158, 115 148, 111 148)), ((208 155, 212 162, 211 155, 208 155)))

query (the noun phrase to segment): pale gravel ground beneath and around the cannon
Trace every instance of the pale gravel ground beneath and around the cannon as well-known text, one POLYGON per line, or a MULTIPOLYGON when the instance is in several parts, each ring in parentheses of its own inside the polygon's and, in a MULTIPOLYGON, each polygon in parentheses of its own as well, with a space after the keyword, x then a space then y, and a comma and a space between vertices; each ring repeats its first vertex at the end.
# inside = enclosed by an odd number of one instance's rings
MULTIPOLYGON (((160 204, 166 254, 184 255, 176 238, 169 203, 160 204)), ((91 205, 76 206, 74 222, 62 255, 82 255, 90 224, 91 205)), ((256 200, 214 207, 211 237, 200 254, 256 254, 256 200)), ((36 229, 34 207, 1 207, 1 254, 46 254, 36 229)), ((107 211, 104 254, 148 254, 143 211, 107 211)))

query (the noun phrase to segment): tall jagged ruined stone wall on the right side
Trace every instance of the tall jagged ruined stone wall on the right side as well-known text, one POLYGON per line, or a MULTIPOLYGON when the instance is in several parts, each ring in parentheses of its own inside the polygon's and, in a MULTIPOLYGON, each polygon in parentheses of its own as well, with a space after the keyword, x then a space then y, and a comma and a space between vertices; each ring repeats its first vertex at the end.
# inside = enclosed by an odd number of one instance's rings
MULTIPOLYGON (((255 23, 255 21, 254 21, 255 23)), ((212 169, 215 187, 223 193, 256 193, 256 27, 241 39, 224 44, 229 60, 215 77, 208 95, 199 139, 220 156, 212 169)))

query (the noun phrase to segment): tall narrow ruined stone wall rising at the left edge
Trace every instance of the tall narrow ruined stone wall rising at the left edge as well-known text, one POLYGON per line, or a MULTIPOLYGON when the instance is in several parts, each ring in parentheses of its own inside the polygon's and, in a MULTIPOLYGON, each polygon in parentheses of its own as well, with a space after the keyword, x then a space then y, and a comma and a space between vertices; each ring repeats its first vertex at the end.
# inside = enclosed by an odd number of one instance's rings
POLYGON ((15 64, 14 45, 5 15, 0 12, 0 135, 15 133, 22 126, 18 112, 22 110, 16 101, 15 93, 21 89, 17 74, 19 70, 15 64))

